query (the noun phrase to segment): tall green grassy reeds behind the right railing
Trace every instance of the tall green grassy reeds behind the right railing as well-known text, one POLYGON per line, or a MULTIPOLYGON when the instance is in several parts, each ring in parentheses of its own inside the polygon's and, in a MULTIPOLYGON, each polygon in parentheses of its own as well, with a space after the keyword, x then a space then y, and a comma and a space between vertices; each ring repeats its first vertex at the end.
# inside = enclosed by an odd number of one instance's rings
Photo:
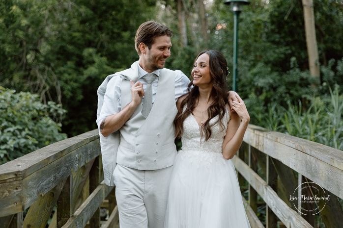
POLYGON ((343 95, 339 87, 330 96, 313 97, 309 107, 288 102, 287 108, 273 103, 260 118, 260 126, 343 150, 343 95))

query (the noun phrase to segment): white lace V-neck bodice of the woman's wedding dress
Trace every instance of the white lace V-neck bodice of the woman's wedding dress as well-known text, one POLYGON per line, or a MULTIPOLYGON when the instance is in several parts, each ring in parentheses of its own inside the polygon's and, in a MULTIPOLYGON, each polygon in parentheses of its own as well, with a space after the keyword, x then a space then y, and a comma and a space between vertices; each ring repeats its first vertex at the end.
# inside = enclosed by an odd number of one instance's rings
MULTIPOLYGON (((217 121, 219 116, 216 116, 210 120, 210 124, 217 121)), ((226 110, 225 118, 223 119, 223 126, 217 123, 211 128, 212 134, 207 141, 201 137, 200 127, 193 115, 189 115, 183 122, 183 135, 181 137, 182 151, 181 156, 183 158, 191 158, 191 162, 196 161, 200 163, 206 161, 209 164, 212 163, 212 159, 223 159, 222 146, 226 130, 228 128, 229 112, 226 110)))

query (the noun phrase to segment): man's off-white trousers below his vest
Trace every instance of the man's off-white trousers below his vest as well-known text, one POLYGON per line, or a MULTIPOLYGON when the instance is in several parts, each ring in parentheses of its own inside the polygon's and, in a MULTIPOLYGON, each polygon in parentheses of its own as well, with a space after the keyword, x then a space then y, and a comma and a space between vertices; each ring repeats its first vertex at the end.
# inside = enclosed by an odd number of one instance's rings
POLYGON ((163 228, 171 172, 172 166, 145 171, 116 165, 120 228, 163 228))

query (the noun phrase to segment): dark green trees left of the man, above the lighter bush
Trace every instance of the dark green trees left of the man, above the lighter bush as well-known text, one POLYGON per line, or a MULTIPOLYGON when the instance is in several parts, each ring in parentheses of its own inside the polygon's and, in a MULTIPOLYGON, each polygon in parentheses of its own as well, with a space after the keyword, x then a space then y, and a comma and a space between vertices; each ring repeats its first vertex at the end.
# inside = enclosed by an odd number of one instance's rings
POLYGON ((1 1, 1 85, 63 103, 63 131, 70 136, 94 129, 97 87, 138 59, 135 33, 154 19, 155 3, 1 1))

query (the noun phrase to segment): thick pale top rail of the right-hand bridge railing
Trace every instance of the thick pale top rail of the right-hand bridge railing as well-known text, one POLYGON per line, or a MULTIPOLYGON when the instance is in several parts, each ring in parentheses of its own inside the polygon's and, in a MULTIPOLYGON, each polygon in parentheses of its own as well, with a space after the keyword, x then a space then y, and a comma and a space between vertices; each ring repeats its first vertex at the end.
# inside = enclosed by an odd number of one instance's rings
MULTIPOLYGON (((261 152, 264 152, 269 156, 281 161, 286 166, 292 168, 305 177, 312 179, 319 185, 325 186, 325 189, 343 199, 343 169, 338 168, 343 168, 343 163, 341 165, 337 165, 335 162, 329 162, 330 160, 328 159, 321 161, 319 158, 317 158, 321 157, 320 155, 317 155, 316 157, 313 156, 314 146, 311 145, 314 142, 291 137, 278 132, 262 130, 257 131, 254 130, 254 128, 250 128, 250 133, 248 133, 247 137, 244 138, 247 143, 250 143, 253 147, 256 147, 261 152), (273 136, 270 136, 271 134, 273 136), (279 137, 277 138, 276 135, 279 137), (293 138, 297 139, 299 144, 303 142, 308 146, 308 148, 292 143, 291 140, 295 141, 293 138), (261 140, 263 143, 260 142, 261 140), (299 151, 299 149, 302 151, 299 151), (311 154, 309 154, 309 151, 311 151, 311 154), (336 165, 334 166, 334 164, 336 165)), ((338 151, 336 149, 330 147, 325 147, 325 149, 327 149, 327 151, 321 152, 329 155, 331 154, 330 157, 332 159, 343 159, 343 153, 341 151, 339 151, 340 154, 337 154, 337 152, 331 153, 338 151)), ((328 156, 325 157, 327 158, 328 156)), ((324 159, 324 157, 322 158, 324 159)))

